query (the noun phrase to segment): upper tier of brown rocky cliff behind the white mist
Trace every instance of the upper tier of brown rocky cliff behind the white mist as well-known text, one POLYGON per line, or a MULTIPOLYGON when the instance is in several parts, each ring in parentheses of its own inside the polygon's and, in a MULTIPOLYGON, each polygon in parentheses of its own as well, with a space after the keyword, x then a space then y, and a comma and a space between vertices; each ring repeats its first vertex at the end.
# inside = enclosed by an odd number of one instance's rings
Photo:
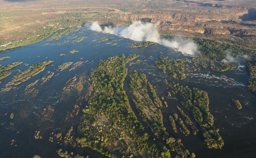
POLYGON ((156 21, 191 21, 191 22, 208 22, 208 21, 227 21, 237 20, 240 16, 247 14, 247 10, 232 11, 223 9, 169 9, 156 10, 150 9, 144 12, 145 14, 125 14, 120 18, 124 20, 140 20, 150 18, 152 22, 156 21))

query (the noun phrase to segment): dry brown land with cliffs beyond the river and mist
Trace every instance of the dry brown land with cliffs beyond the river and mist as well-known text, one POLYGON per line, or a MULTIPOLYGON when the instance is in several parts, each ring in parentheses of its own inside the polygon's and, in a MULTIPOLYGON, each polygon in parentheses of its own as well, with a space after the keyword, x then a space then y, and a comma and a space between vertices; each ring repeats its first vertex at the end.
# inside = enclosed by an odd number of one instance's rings
POLYGON ((162 34, 200 37, 256 49, 253 0, 0 0, 0 45, 38 42, 60 28, 99 21, 159 22, 162 34), (40 37, 39 37, 40 36, 40 37))

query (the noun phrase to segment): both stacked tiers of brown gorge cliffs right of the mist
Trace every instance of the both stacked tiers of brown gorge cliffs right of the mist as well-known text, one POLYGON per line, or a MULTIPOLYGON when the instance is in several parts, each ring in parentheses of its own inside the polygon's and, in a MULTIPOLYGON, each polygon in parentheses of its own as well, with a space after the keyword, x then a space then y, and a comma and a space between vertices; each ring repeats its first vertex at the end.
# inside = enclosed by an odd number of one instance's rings
POLYGON ((254 18, 254 12, 238 9, 148 9, 143 14, 121 14, 119 21, 160 23, 159 28, 187 33, 255 36, 253 25, 241 24, 241 16, 254 18), (248 16, 244 16, 247 15, 248 16))

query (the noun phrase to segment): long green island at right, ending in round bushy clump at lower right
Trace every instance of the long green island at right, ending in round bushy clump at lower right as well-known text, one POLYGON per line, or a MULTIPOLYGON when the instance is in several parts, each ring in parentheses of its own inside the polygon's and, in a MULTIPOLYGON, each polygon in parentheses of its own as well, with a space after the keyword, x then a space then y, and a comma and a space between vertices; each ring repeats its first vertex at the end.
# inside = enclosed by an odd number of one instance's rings
MULTIPOLYGON (((179 94, 181 105, 191 112, 194 121, 203 131, 203 140, 208 148, 221 149, 224 145, 223 139, 219 135, 219 129, 214 127, 214 116, 209 112, 208 94, 198 88, 183 87, 182 85, 169 83, 165 84, 172 88, 174 93, 179 94)), ((181 113, 181 109, 179 109, 181 113)), ((191 124, 186 115, 182 114, 187 124, 191 124)), ((192 127, 191 127, 192 128, 192 127)))

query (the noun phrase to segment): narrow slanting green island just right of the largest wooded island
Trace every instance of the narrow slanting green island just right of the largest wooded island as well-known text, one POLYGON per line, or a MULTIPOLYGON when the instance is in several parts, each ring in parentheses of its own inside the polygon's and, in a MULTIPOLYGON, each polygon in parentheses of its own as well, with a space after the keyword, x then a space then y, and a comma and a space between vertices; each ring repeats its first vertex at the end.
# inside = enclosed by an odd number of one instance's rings
POLYGON ((156 136, 167 139, 168 133, 163 126, 163 115, 158 107, 163 107, 145 74, 130 71, 130 94, 143 121, 147 122, 156 136), (152 98, 152 99, 151 99, 152 98))

